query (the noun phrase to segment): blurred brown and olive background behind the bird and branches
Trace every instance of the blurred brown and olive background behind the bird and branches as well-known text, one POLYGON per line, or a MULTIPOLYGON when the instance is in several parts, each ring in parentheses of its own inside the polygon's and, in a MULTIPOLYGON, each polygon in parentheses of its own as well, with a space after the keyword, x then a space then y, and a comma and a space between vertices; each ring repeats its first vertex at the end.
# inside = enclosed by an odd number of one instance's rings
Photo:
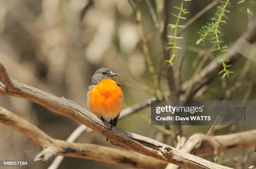
MULTIPOLYGON (((159 0, 161 2, 161 0, 159 0)), ((185 6, 190 11, 187 18, 202 10, 212 0, 192 0, 185 6)), ((155 1, 151 0, 155 7, 155 1)), ((178 0, 170 2, 170 15, 175 12, 173 6, 179 6, 178 0)), ((255 10, 255 5, 252 6, 255 10)), ((223 26, 224 40, 232 44, 246 30, 248 17, 246 10, 234 3, 228 14, 228 25, 223 26)), ((210 45, 195 45, 199 35, 196 33, 210 20, 216 7, 194 22, 182 34, 184 40, 179 45, 187 49, 182 65, 182 80, 192 77, 197 64, 193 62, 210 45)), ((154 27, 150 11, 145 1, 141 1, 142 24, 145 34, 150 38, 148 47, 156 71, 162 59, 161 39, 154 27)), ((255 12, 256 15, 256 12, 255 12)), ((169 17, 169 23, 176 18, 169 17)), ((184 20, 181 21, 184 24, 184 20)), ((169 30, 168 35, 173 32, 169 30)), ((184 50, 178 50, 184 55, 184 50)), ((255 55, 253 57, 256 57, 255 55)), ((210 60, 213 58, 210 57, 210 60)), ((127 0, 0 0, 0 62, 5 65, 13 79, 44 90, 58 97, 71 99, 82 107, 87 107, 87 87, 91 77, 100 67, 108 67, 120 76, 115 80, 124 85, 125 107, 152 97, 153 82, 148 72, 141 48, 140 36, 136 27, 133 10, 127 0)), ((226 84, 232 86, 243 67, 248 66, 243 83, 229 99, 243 99, 255 79, 255 63, 244 65, 242 58, 231 70, 235 73, 226 84)), ((167 67, 167 64, 165 65, 167 67)), ((174 72, 178 69, 174 65, 174 72)), ((198 99, 224 99, 221 89, 221 77, 210 84, 206 92, 198 99)), ((161 81, 162 91, 167 91, 166 80, 161 81)), ((246 99, 256 98, 256 85, 252 84, 251 93, 246 99)), ((38 104, 16 97, 0 96, 0 106, 32 122, 55 139, 67 139, 79 125, 74 120, 50 112, 38 104)), ((138 114, 118 121, 118 127, 166 141, 150 122, 141 119, 149 117, 150 108, 138 114)), ((185 136, 195 132, 205 133, 208 126, 184 127, 185 136)), ((238 127, 234 132, 252 127, 238 127)), ((224 130, 219 134, 228 133, 224 130)), ((78 142, 91 142, 111 146, 102 142, 98 133, 83 134, 78 142)), ((168 140, 166 141, 168 143, 168 140)), ((45 169, 46 164, 33 162, 33 157, 40 152, 33 143, 20 133, 0 124, 0 159, 28 160, 31 169, 45 169)), ((228 163, 236 163, 236 158, 243 157, 244 151, 226 153, 228 163), (233 158, 234 157, 234 158, 233 158), (236 158, 235 158, 236 157, 236 158)), ((246 164, 256 165, 256 154, 246 164)), ((210 157, 208 159, 211 159, 210 157)), ((239 161, 239 160, 238 160, 239 161)), ((225 164, 225 163, 224 163, 225 164)), ((22 167, 20 167, 22 168, 22 167)), ((124 168, 85 159, 65 158, 61 169, 69 168, 124 168)), ((18 167, 16 167, 18 169, 18 167)))

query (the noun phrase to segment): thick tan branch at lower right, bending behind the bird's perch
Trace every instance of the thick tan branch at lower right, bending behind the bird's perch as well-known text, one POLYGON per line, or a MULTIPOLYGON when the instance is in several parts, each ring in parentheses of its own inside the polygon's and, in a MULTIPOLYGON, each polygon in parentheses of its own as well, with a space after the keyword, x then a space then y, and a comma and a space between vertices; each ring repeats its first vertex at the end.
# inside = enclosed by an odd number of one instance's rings
MULTIPOLYGON (((181 150, 202 157, 213 154, 214 151, 230 152, 249 147, 256 147, 256 129, 213 137, 200 133, 193 134, 181 150)), ((168 169, 178 168, 178 166, 169 165, 168 169)))

